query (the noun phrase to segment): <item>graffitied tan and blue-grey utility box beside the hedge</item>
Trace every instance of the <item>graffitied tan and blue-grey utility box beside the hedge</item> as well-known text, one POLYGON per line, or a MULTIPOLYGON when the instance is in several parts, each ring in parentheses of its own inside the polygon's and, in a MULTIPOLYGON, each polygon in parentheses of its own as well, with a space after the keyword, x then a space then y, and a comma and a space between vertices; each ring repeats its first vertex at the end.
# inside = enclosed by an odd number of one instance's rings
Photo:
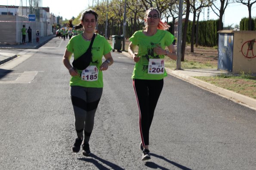
POLYGON ((256 73, 256 31, 221 30, 218 33, 218 69, 256 73))

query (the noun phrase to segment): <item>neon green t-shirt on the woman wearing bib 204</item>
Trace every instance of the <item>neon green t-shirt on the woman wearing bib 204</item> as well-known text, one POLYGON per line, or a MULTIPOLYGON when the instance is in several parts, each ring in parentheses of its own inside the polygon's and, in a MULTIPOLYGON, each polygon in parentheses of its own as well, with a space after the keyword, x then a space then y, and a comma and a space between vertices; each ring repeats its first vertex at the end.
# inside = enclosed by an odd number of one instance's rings
POLYGON ((146 36, 143 30, 136 31, 129 39, 133 45, 139 46, 138 55, 140 57, 133 69, 132 78, 143 80, 161 80, 167 76, 164 69, 163 74, 148 74, 148 62, 149 59, 164 59, 164 55, 157 55, 154 53, 154 47, 158 45, 165 49, 173 43, 174 36, 165 30, 157 30, 157 33, 153 36, 146 36))

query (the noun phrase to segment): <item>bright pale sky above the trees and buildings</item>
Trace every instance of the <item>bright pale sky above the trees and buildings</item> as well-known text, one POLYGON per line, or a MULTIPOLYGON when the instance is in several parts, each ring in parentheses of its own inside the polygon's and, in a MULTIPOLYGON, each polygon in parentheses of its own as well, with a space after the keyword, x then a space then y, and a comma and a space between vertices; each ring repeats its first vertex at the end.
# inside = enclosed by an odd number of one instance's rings
MULTIPOLYGON (((1 0, 0 5, 15 5, 19 6, 21 0, 1 0)), ((28 1, 28 0, 27 0, 28 1)), ((26 0, 22 0, 23 6, 26 6, 26 0)), ((53 13, 55 16, 62 16, 63 19, 71 19, 73 16, 76 18, 79 13, 92 5, 93 0, 71 0, 69 3, 59 3, 59 0, 42 0, 43 7, 49 7, 50 13, 53 13), (71 6, 71 7, 70 7, 71 6)), ((96 0, 94 0, 96 3, 96 0)), ((256 17, 256 3, 252 6, 252 17, 256 17)), ((218 13, 218 12, 217 12, 218 13)), ((249 12, 247 6, 241 3, 232 3, 229 4, 225 9, 225 14, 223 18, 224 27, 230 26, 234 27, 236 24, 239 25, 240 21, 244 17, 249 17, 249 12)), ((190 13, 189 19, 193 20, 193 14, 190 13)), ((210 8, 209 10, 209 19, 218 19, 218 16, 210 8)), ((207 20, 207 8, 201 12, 199 21, 207 20)), ((170 20, 169 20, 170 21, 170 20)))

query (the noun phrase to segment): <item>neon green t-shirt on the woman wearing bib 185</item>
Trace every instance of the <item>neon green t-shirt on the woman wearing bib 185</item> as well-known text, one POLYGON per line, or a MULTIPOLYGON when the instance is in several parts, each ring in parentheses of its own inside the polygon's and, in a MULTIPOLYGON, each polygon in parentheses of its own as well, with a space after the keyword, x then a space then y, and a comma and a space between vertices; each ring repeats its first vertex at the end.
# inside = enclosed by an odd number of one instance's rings
MULTIPOLYGON (((74 54, 74 59, 76 60, 82 54, 84 54, 89 48, 90 41, 85 41, 81 34, 77 36, 73 36, 66 46, 67 50, 74 54)), ((93 58, 90 63, 90 66, 99 67, 102 65, 102 57, 105 54, 108 54, 112 50, 111 45, 108 41, 99 34, 95 37, 93 46, 92 46, 92 54, 93 58)), ((81 75, 82 70, 77 70, 78 74, 81 75)), ((99 70, 98 80, 97 81, 83 81, 80 76, 71 76, 70 86, 83 86, 83 87, 103 87, 103 75, 102 71, 99 70)))

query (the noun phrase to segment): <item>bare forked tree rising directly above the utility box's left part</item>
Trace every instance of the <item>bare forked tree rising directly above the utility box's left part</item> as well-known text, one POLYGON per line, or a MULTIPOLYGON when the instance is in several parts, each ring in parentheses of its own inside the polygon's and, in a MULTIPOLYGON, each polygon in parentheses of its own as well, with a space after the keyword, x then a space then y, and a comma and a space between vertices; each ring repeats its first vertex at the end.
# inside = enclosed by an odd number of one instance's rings
POLYGON ((220 7, 216 6, 215 3, 213 3, 211 7, 211 9, 213 10, 213 12, 219 17, 219 25, 218 25, 218 30, 222 30, 222 18, 225 12, 225 9, 227 8, 229 3, 233 3, 234 0, 219 0, 220 1, 220 7), (214 8, 214 9, 213 9, 214 8), (217 13, 215 10, 219 11, 219 13, 217 13))

